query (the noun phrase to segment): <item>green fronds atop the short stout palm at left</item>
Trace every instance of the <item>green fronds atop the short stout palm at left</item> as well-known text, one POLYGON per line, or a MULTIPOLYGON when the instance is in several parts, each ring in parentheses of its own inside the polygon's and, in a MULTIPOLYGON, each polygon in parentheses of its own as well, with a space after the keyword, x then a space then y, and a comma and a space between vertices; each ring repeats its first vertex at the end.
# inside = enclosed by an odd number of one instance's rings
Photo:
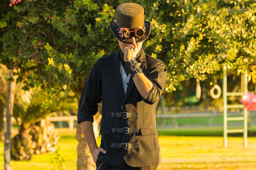
POLYGON ((13 117, 19 125, 35 124, 40 118, 55 111, 77 110, 77 99, 69 89, 51 96, 40 88, 24 92, 18 87, 16 91, 13 117))

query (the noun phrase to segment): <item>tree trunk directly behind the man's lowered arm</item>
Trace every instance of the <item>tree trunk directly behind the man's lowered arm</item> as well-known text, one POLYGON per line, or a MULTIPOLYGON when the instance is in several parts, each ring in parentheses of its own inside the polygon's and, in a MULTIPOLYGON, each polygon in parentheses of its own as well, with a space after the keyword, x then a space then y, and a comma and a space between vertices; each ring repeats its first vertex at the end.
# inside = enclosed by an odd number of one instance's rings
MULTIPOLYGON (((98 107, 100 108, 100 107, 98 107)), ((93 117, 93 131, 95 135, 95 139, 99 136, 99 124, 101 120, 100 112, 93 117)), ((88 144, 86 142, 86 139, 83 137, 83 132, 81 131, 81 127, 79 124, 77 124, 77 132, 76 132, 76 139, 78 141, 77 146, 77 170, 84 170, 84 169, 96 169, 95 163, 92 159, 92 154, 90 153, 90 150, 88 148, 88 144)))

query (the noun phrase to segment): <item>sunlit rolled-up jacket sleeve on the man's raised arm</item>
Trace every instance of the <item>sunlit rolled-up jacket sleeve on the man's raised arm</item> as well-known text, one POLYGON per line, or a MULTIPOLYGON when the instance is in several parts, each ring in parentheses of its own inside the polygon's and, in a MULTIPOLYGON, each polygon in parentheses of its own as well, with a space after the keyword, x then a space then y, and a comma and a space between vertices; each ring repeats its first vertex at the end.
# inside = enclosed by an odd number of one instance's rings
POLYGON ((153 87, 148 98, 144 99, 145 103, 154 104, 159 101, 161 94, 163 94, 166 74, 167 69, 163 62, 159 62, 156 66, 150 68, 147 78, 153 83, 153 87))

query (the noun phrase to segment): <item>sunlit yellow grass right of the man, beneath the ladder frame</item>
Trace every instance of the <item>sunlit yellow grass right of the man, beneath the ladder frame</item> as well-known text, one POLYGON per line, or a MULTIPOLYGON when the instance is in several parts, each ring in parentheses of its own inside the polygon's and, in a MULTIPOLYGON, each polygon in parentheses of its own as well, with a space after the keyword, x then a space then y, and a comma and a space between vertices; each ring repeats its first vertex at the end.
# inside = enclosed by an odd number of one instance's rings
POLYGON ((223 148, 222 137, 160 136, 163 164, 158 169, 256 169, 256 138, 229 137, 223 148))

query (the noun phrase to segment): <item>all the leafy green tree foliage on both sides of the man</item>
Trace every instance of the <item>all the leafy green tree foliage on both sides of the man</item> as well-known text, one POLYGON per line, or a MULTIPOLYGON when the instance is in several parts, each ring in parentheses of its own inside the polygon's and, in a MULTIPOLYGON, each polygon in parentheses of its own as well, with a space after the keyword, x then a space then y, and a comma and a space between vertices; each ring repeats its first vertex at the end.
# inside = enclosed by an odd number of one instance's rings
MULTIPOLYGON (((14 8, 1 6, 0 61, 17 69, 26 90, 41 87, 58 94, 68 86, 79 97, 95 61, 118 50, 109 22, 124 2, 28 0, 14 8)), ((248 69, 255 80, 255 67, 250 67, 256 54, 255 1, 136 3, 152 24, 143 48, 168 67, 167 92, 184 80, 205 80, 223 69, 248 69)))

